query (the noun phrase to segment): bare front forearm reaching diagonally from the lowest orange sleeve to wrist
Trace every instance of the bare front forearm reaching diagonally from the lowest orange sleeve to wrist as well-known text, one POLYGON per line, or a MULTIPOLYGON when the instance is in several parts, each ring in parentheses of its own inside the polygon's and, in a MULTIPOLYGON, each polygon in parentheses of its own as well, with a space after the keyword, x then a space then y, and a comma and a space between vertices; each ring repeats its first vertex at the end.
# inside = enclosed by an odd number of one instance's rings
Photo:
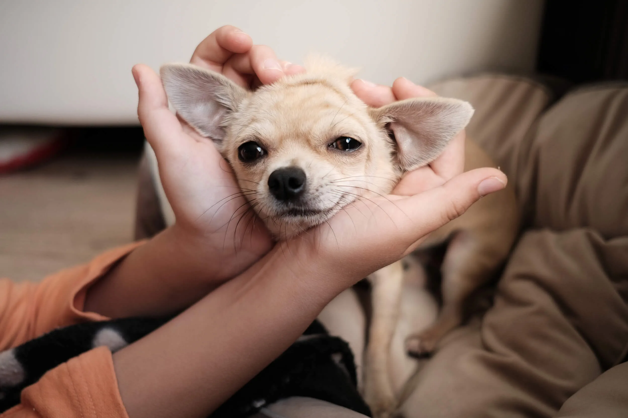
POLYGON ((206 416, 283 352, 341 290, 315 269, 292 269, 276 248, 114 354, 129 416, 206 416))

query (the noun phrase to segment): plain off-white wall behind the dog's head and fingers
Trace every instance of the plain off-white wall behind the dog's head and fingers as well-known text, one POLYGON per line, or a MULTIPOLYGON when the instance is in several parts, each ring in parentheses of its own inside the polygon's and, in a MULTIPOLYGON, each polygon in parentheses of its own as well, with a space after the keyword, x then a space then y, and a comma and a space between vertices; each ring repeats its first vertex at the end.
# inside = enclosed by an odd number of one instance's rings
POLYGON ((0 122, 136 123, 131 66, 187 61, 234 24, 298 63, 378 83, 534 68, 543 0, 0 0, 0 122))

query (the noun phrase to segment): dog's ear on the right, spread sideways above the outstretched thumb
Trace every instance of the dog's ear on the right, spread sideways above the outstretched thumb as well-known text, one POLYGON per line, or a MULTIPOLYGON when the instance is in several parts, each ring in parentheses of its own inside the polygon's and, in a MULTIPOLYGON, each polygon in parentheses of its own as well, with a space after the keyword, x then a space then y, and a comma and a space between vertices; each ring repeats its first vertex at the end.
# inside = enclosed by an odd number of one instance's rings
POLYGON ((429 164, 471 119, 474 108, 453 98, 412 98, 371 109, 397 146, 397 164, 409 171, 429 164))

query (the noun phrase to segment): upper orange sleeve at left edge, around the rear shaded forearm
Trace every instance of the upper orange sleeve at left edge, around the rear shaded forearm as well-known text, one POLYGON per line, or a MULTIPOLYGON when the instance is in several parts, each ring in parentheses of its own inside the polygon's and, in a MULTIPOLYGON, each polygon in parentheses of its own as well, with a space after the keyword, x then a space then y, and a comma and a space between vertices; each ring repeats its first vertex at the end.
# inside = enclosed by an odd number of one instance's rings
POLYGON ((106 320, 84 312, 90 285, 142 243, 112 249, 90 263, 60 271, 41 283, 0 279, 0 351, 16 347, 54 328, 82 321, 106 320))

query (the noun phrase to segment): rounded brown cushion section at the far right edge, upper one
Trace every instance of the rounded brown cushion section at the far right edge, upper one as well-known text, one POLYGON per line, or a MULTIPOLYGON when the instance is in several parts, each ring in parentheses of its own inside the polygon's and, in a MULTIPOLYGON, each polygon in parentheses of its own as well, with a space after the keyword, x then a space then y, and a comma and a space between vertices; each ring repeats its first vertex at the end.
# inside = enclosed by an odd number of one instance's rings
POLYGON ((522 157, 535 226, 628 235, 628 85, 567 95, 543 115, 522 157))

